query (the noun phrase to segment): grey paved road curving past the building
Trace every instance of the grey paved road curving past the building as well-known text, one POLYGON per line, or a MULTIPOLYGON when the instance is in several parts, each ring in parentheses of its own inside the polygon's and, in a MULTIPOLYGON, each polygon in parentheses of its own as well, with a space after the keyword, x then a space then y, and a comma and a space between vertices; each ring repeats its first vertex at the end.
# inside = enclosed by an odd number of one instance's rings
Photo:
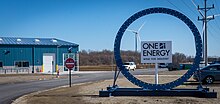
MULTIPOLYGON (((160 71, 164 71, 164 70, 167 69, 162 69, 160 71)), ((141 75, 146 73, 153 74, 153 72, 154 70, 145 69, 145 70, 136 70, 132 73, 135 75, 141 75)), ((113 75, 114 72, 73 74, 72 84, 113 79, 113 75)), ((122 77, 122 75, 120 75, 120 77, 122 77)), ((14 99, 22 95, 31 92, 55 88, 58 86, 68 85, 68 84, 69 84, 69 80, 67 78, 67 79, 32 81, 32 82, 0 85, 0 104, 10 104, 14 99)))

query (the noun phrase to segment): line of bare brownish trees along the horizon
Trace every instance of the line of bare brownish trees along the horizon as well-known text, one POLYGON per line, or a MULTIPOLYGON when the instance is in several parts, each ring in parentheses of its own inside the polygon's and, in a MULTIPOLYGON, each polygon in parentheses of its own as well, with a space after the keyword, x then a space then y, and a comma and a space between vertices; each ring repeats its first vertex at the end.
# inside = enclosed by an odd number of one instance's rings
MULTIPOLYGON (((114 52, 111 50, 102 51, 86 51, 79 52, 80 66, 97 66, 97 65, 112 65, 115 64, 114 52)), ((135 51, 121 50, 123 62, 133 61, 136 64, 141 64, 141 53, 135 51)), ((187 56, 183 53, 174 53, 172 56, 173 63, 188 63, 194 61, 194 56, 187 56)), ((220 57, 209 57, 208 61, 219 61, 220 57)))

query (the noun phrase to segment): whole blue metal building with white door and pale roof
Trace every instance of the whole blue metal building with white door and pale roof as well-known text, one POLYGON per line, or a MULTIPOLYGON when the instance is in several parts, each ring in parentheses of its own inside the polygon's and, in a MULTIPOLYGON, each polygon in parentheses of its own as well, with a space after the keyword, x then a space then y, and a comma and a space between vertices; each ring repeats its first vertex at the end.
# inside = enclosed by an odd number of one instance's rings
POLYGON ((56 38, 0 37, 0 70, 6 72, 55 73, 68 71, 67 58, 79 71, 79 45, 56 38))

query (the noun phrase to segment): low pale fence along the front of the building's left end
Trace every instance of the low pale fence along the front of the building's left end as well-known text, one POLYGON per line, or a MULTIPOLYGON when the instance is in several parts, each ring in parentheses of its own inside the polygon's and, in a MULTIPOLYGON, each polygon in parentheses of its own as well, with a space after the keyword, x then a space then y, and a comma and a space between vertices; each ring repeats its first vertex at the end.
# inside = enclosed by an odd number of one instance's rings
POLYGON ((29 74, 30 68, 0 68, 0 74, 29 74))

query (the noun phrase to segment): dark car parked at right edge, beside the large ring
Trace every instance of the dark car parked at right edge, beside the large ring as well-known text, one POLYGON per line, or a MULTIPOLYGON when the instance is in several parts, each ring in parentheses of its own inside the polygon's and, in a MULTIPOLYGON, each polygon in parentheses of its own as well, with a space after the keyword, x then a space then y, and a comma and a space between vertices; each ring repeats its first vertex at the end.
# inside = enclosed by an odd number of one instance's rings
POLYGON ((203 83, 207 84, 220 80, 220 64, 212 64, 200 69, 200 75, 199 71, 196 71, 193 79, 199 81, 200 78, 203 83))

